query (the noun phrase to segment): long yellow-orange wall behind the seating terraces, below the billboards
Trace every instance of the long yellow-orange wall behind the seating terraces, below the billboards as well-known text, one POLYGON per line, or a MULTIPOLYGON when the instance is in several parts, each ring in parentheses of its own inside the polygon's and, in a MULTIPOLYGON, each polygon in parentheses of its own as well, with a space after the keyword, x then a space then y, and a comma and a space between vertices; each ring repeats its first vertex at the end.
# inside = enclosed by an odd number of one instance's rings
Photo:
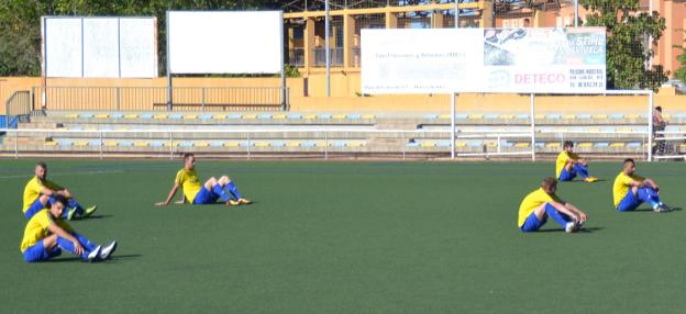
MULTIPOLYGON (((290 78, 291 111, 313 112, 450 112, 450 97, 445 94, 421 96, 362 96, 359 94, 359 72, 332 72, 332 97, 325 94, 325 76, 310 74, 305 78, 290 78), (307 82, 307 88, 306 88, 307 82), (305 92, 307 90, 308 97, 305 92)), ((0 78, 4 90, 31 90, 43 83, 42 78, 0 78)), ((175 78, 176 87, 278 87, 279 78, 175 78)), ((156 79, 48 79, 49 87, 161 87, 166 86, 166 78, 156 79)), ((143 90, 143 89, 142 89, 143 90)), ((152 91, 151 91, 152 92, 152 91)), ((157 89, 159 92, 159 89, 157 89)), ((0 94, 3 99, 9 97, 0 94)), ((246 96, 248 97, 248 96, 246 96)), ((153 97, 151 97, 153 98, 153 97)), ((157 96, 161 102, 166 101, 166 92, 157 96)), ((113 97, 104 96, 103 101, 113 97)), ((184 99, 176 98, 177 101, 184 99)), ((82 105, 82 104, 81 104, 82 105)), ((101 104, 93 104, 97 110, 101 104)), ((536 112, 555 113, 609 113, 646 111, 645 96, 536 96, 536 112)), ((686 112, 686 96, 675 94, 674 89, 663 89, 655 94, 655 105, 662 105, 666 113, 686 112)), ((152 105, 125 108, 122 110, 148 111, 152 105)), ((469 93, 457 97, 458 112, 477 113, 528 113, 529 96, 527 94, 484 94, 469 93)), ((0 106, 4 114, 4 101, 0 106)))

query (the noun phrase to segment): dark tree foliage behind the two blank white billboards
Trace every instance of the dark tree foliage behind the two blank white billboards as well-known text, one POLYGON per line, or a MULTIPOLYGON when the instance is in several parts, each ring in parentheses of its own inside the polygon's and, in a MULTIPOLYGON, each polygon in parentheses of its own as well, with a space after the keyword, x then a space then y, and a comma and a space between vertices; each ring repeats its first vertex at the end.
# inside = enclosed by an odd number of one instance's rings
MULTIPOLYGON (((165 69, 168 10, 280 9, 276 0, 0 0, 0 76, 41 75, 41 16, 156 16, 165 69)), ((164 71, 164 70, 163 70, 164 71)))

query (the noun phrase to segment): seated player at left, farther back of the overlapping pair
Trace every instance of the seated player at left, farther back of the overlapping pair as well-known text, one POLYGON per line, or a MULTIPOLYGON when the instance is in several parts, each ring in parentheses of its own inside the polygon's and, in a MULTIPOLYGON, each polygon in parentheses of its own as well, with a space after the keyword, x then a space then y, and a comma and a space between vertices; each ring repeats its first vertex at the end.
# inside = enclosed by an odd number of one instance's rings
POLYGON ((30 220, 35 213, 52 204, 55 195, 67 198, 67 208, 64 211, 64 218, 73 220, 79 217, 88 217, 96 212, 97 206, 85 209, 74 200, 69 190, 59 184, 47 180, 47 166, 38 162, 34 169, 35 176, 29 180, 24 188, 24 217, 30 220))

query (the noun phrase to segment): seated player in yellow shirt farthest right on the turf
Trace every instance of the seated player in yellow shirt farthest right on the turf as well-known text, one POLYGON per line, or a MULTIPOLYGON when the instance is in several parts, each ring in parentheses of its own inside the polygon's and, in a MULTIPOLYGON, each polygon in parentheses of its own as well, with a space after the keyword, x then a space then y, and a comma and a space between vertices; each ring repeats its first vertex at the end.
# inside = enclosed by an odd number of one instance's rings
POLYGON ((617 175, 612 186, 615 209, 619 212, 633 211, 642 203, 649 203, 655 212, 668 212, 672 209, 660 201, 660 187, 655 180, 635 175, 633 159, 624 159, 622 171, 617 175))

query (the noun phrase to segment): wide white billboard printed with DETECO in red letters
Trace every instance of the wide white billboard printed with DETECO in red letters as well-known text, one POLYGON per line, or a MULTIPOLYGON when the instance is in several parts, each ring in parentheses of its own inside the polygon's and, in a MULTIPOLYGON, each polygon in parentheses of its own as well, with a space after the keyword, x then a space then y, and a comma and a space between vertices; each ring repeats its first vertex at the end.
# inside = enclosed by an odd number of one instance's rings
POLYGON ((364 93, 600 93, 606 31, 363 30, 364 93))

